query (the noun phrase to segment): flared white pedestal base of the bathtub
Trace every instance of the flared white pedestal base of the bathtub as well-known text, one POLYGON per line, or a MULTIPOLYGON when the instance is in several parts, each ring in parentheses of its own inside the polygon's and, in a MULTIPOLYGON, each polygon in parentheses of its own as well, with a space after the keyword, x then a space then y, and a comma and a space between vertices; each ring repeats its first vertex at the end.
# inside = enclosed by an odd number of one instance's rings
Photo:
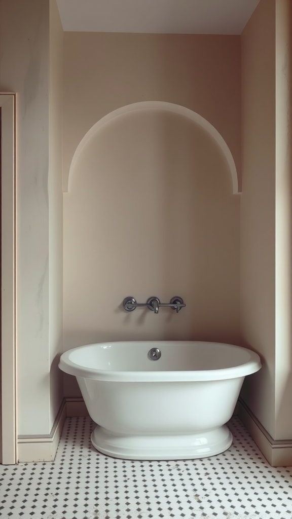
POLYGON ((181 435, 123 435, 97 426, 92 445, 103 454, 122 459, 196 459, 222 453, 232 443, 232 434, 223 425, 211 431, 181 435))

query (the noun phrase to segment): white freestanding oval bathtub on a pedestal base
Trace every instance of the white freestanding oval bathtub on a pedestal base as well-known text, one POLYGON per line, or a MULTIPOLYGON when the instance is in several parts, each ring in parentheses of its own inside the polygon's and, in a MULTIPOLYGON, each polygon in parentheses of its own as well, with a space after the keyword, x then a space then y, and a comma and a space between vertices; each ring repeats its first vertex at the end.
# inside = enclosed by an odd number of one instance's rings
POLYGON ((98 424, 91 442, 100 452, 163 460, 228 449, 232 434, 224 424, 244 377, 261 362, 254 351, 230 344, 143 341, 74 348, 59 367, 77 378, 98 424))

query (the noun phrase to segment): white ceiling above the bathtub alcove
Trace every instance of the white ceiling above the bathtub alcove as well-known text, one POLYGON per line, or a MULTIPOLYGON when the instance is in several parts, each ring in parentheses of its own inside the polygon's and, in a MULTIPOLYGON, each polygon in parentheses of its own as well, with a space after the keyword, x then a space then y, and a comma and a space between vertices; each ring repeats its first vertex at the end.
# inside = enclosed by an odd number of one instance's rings
POLYGON ((64 31, 241 34, 259 0, 57 0, 64 31))

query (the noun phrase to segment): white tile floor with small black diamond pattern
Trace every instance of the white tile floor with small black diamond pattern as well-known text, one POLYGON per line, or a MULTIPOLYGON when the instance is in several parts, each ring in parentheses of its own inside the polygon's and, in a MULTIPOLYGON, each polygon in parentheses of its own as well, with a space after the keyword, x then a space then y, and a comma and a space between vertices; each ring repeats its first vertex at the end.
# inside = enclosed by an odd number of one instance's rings
POLYGON ((91 429, 69 418, 54 462, 0 466, 0 517, 292 519, 292 468, 271 468, 237 418, 232 447, 202 460, 110 458, 91 429))

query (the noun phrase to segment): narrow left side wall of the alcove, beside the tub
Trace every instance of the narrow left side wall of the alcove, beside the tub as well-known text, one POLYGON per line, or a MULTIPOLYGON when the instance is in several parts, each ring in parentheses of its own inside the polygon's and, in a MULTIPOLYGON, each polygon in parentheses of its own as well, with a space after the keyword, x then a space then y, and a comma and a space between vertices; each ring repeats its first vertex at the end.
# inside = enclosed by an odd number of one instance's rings
POLYGON ((49 363, 50 428, 63 399, 58 368, 63 349, 62 100, 63 29, 56 0, 50 0, 49 42, 49 363))

